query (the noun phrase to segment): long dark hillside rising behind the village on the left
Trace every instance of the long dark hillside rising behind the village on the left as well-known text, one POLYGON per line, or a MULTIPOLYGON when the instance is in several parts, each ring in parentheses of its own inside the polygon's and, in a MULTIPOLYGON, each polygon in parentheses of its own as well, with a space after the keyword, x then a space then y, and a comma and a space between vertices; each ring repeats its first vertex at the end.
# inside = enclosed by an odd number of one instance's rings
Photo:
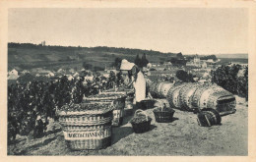
POLYGON ((175 56, 153 50, 114 47, 63 47, 35 44, 8 44, 8 69, 82 67, 83 62, 98 67, 110 66, 119 57, 134 61, 137 54, 147 55, 150 62, 160 62, 175 56))

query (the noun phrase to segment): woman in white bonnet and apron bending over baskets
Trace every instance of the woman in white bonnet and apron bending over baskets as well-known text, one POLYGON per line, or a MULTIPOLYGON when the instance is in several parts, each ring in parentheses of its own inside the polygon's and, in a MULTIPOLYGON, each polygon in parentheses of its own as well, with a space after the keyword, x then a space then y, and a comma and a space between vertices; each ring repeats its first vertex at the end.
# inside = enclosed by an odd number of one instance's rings
POLYGON ((121 71, 128 71, 128 75, 131 77, 133 86, 135 88, 135 100, 136 107, 141 107, 141 101, 146 98, 146 80, 143 73, 134 64, 123 59, 120 66, 121 71))

